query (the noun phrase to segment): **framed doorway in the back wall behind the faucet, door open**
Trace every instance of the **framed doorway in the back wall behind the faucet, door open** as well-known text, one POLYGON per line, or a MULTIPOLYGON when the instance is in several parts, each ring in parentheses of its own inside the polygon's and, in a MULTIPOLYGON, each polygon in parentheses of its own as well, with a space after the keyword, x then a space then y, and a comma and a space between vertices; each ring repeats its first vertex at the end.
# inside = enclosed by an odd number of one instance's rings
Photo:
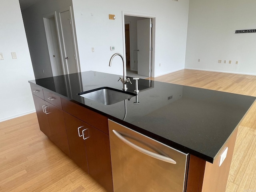
POLYGON ((128 76, 154 77, 154 17, 123 12, 123 21, 128 76))

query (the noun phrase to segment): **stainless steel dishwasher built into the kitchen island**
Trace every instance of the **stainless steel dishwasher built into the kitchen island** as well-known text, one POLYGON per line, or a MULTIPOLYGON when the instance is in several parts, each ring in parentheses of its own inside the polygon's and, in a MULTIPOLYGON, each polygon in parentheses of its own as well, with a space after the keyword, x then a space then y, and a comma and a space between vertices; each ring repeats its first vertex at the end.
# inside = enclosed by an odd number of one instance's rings
POLYGON ((114 192, 184 192, 188 154, 108 120, 114 192))

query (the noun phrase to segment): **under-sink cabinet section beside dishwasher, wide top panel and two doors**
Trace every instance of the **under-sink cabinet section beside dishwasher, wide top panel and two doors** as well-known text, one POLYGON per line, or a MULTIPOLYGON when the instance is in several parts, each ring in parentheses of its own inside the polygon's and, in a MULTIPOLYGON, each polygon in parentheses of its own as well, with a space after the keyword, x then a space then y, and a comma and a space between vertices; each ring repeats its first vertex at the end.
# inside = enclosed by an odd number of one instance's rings
POLYGON ((108 192, 113 191, 110 143, 105 133, 108 119, 66 99, 61 100, 71 158, 108 192), (73 116, 77 114, 82 116, 73 116))

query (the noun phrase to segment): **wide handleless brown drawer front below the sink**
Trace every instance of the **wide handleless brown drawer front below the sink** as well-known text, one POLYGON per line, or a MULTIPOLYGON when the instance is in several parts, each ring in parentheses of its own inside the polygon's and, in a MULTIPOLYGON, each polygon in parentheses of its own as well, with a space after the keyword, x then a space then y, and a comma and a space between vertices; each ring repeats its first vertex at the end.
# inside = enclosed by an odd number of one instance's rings
POLYGON ((108 134, 108 118, 74 102, 61 98, 62 108, 67 113, 108 134))

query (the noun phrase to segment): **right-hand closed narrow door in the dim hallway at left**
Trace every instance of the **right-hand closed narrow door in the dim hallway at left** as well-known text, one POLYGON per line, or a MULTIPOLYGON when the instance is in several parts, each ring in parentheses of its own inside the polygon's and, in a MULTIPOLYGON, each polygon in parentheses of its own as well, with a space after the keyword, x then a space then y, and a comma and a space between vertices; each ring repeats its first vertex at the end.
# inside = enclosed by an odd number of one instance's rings
POLYGON ((65 74, 77 73, 78 69, 75 59, 74 40, 69 10, 60 13, 60 25, 66 62, 65 74))

